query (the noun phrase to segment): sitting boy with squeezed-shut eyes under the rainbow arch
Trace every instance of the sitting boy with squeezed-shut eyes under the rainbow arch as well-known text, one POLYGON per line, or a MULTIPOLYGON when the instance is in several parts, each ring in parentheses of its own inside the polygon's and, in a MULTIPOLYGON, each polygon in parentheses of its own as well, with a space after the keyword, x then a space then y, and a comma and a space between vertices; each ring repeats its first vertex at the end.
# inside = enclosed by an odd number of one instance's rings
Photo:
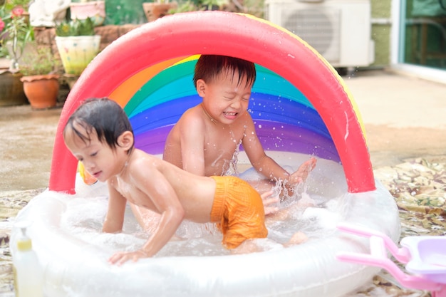
POLYGON ((284 194, 291 196, 316 166, 316 159, 311 157, 289 173, 266 155, 247 111, 255 80, 254 63, 229 56, 200 56, 194 84, 202 103, 187 110, 172 128, 163 159, 198 175, 225 175, 243 145, 252 167, 265 177, 264 185, 256 186, 259 192, 281 181, 284 194))

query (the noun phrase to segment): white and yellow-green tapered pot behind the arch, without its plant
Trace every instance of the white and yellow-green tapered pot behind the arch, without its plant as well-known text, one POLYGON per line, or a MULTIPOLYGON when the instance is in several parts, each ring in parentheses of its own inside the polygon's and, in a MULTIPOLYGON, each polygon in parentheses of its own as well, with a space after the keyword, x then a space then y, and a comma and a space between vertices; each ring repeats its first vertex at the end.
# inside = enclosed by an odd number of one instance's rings
POLYGON ((81 75, 99 52, 100 35, 56 36, 56 45, 65 73, 81 75))

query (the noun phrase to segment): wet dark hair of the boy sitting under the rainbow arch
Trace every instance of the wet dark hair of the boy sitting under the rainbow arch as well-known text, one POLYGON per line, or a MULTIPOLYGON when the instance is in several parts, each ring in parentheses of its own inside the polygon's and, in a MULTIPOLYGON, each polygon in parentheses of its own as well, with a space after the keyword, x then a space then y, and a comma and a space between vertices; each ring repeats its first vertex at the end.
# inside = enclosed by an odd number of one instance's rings
POLYGON ((247 75, 247 85, 254 85, 256 81, 256 67, 254 63, 239 58, 218 55, 202 55, 198 58, 195 65, 194 85, 197 87, 197 80, 202 79, 205 82, 212 82, 223 71, 231 71, 232 77, 238 72, 241 83, 244 75, 247 75))

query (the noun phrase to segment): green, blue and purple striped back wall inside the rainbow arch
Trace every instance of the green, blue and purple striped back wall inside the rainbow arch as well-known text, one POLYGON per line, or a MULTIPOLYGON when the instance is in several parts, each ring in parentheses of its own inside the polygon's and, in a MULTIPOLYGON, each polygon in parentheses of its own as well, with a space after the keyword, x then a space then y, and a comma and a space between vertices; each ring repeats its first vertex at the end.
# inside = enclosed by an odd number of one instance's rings
MULTIPOLYGON (((187 59, 157 73, 128 100, 124 110, 140 149, 162 154, 172 126, 185 110, 202 101, 192 82, 196 61, 187 59)), ((326 125, 301 91, 262 66, 256 65, 256 70, 249 113, 265 150, 339 161, 326 125)))

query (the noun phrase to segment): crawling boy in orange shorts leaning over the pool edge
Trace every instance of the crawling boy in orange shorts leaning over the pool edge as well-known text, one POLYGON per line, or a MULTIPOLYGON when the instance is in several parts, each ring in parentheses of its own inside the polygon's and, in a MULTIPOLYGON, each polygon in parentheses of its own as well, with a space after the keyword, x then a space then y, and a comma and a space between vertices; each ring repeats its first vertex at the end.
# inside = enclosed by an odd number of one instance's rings
POLYGON ((138 150, 130 121, 113 100, 85 100, 68 119, 63 140, 85 170, 108 184, 104 232, 122 230, 127 202, 160 214, 145 244, 137 251, 113 254, 112 264, 154 256, 183 219, 217 222, 228 249, 244 242, 250 246, 251 239, 268 234, 262 198, 271 192, 261 197, 238 177, 198 176, 138 150))

